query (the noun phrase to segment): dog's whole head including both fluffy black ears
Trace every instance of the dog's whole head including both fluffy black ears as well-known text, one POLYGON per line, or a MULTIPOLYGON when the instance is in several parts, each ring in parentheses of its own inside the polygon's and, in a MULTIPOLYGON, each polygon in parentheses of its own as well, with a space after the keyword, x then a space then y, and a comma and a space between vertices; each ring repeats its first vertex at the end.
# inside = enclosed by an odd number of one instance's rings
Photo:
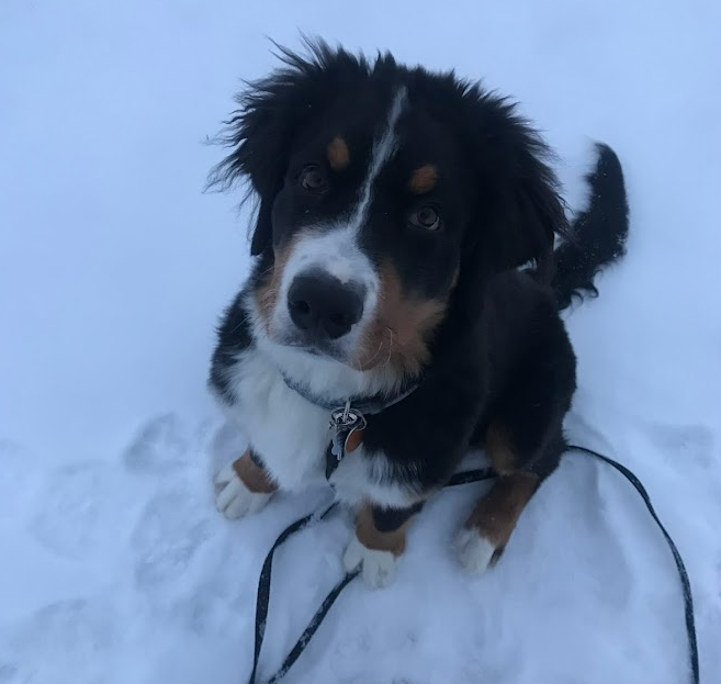
POLYGON ((259 199, 261 334, 416 373, 451 305, 564 231, 548 150, 512 104, 452 74, 324 44, 282 58, 240 97, 212 177, 259 199))

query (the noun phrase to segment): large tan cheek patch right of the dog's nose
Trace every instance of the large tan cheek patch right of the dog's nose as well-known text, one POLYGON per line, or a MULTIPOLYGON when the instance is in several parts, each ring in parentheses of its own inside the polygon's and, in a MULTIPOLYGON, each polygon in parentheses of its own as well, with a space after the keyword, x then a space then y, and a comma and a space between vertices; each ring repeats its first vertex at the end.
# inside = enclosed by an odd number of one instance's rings
POLYGON ((446 315, 447 302, 406 298, 395 268, 386 263, 380 271, 379 311, 358 366, 391 366, 401 374, 415 374, 429 360, 428 340, 446 315))

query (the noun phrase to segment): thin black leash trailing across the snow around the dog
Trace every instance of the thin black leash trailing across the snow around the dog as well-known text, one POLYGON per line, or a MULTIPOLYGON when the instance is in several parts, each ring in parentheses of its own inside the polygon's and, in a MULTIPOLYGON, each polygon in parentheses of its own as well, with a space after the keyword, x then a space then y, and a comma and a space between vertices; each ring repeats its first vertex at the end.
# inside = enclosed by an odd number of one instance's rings
MULTIPOLYGON (((655 520, 656 525, 658 526, 658 529, 661 529, 664 538, 666 539, 666 543, 668 545, 668 548, 671 549, 671 552, 674 556, 674 560, 676 561, 676 569, 678 570, 678 576, 680 578, 680 582, 681 582, 681 588, 684 594, 684 610, 686 614, 686 631, 688 635, 688 651, 689 651, 689 660, 691 666, 690 684, 699 684, 700 679, 699 679, 699 665, 698 665, 698 644, 696 641, 696 623, 694 618, 694 597, 691 595, 691 585, 688 579, 688 572, 686 571, 686 565, 684 564, 684 560, 680 553, 678 552, 678 549, 676 548, 674 540, 672 539, 671 535, 666 531, 666 528, 663 526, 663 523, 658 518, 653 507, 653 504, 651 503, 651 497, 649 496, 649 493, 646 492, 643 484, 641 484, 639 478, 636 478, 636 475, 633 474, 633 472, 631 472, 626 466, 622 466, 621 463, 615 461, 613 459, 610 459, 607 456, 604 456, 602 453, 598 453, 597 451, 594 451, 592 449, 587 449, 586 447, 568 446, 566 449, 579 451, 588 456, 594 456, 600 459, 601 461, 608 463, 612 468, 615 468, 618 472, 620 472, 633 485, 635 491, 640 494, 641 498, 643 500, 643 503, 646 505, 646 508, 651 514, 651 517, 655 520)), ((496 474, 489 468, 469 470, 453 475, 446 486, 457 486, 459 484, 481 482, 483 480, 491 480, 495 476, 496 474)), ((260 571, 260 580, 258 582, 258 597, 256 599, 256 642, 254 650, 252 671, 250 673, 250 679, 248 680, 248 684, 256 684, 256 673, 258 671, 258 662, 260 660, 260 650, 263 643, 263 637, 266 635, 268 605, 270 603, 270 580, 271 580, 271 571, 273 564, 273 554, 275 553, 278 548, 283 542, 285 542, 290 537, 309 527, 311 525, 315 525, 316 523, 319 523, 320 520, 326 518, 337 507, 337 505, 338 505, 337 503, 334 503, 322 513, 311 513, 309 515, 306 515, 305 517, 301 518, 300 520, 296 520, 295 523, 286 527, 280 534, 280 536, 275 540, 275 543, 273 543, 270 551, 268 552, 268 556, 266 557, 262 570, 260 571)), ((333 604, 336 602, 340 593, 359 574, 360 574, 360 569, 353 570, 352 572, 347 573, 343 576, 343 579, 340 580, 338 584, 336 584, 336 586, 328 594, 328 596, 323 602, 316 614, 313 616, 313 618, 308 623, 308 626, 305 628, 298 640, 295 642, 295 646, 291 649, 291 652, 288 654, 282 665, 278 670, 278 672, 275 672, 275 674, 273 674, 268 680, 267 684, 278 684, 278 682, 280 682, 281 679, 285 676, 288 671, 293 666, 295 661, 301 657, 303 651, 306 649, 311 639, 317 631, 318 627, 323 623, 324 618, 333 607, 333 604)))

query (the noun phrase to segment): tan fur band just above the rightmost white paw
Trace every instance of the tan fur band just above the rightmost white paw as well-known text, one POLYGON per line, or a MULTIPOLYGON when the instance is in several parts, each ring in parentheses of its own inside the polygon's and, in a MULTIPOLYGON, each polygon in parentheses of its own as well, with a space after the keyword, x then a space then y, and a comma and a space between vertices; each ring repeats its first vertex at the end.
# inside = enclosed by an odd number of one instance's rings
POLYGON ((476 504, 465 527, 475 528, 496 549, 503 550, 538 485, 538 476, 530 473, 498 478, 476 504))

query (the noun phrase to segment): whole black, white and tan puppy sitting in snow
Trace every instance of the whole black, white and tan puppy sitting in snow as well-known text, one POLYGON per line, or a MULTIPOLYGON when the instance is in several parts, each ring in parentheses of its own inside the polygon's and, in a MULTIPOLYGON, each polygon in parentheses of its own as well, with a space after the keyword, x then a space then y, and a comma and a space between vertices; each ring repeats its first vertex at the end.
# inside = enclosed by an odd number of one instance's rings
POLYGON ((217 506, 237 518, 327 481, 357 509, 345 567, 383 586, 413 516, 482 447, 498 476, 458 551, 483 572, 564 451, 576 360, 559 312, 624 251, 618 158, 597 146, 570 224, 506 98, 388 54, 281 58, 239 97, 211 176, 258 199, 210 374, 249 442, 217 506))

